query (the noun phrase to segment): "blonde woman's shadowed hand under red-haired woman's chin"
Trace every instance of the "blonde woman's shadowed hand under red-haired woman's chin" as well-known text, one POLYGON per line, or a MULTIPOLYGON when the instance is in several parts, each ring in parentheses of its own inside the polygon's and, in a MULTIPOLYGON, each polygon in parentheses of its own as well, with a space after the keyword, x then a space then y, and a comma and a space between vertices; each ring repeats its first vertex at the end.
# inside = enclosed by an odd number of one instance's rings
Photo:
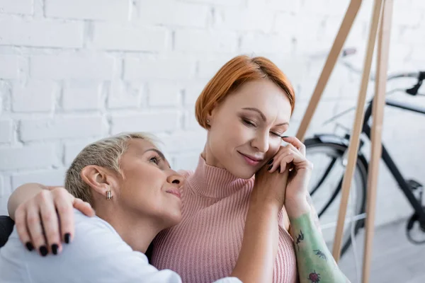
POLYGON ((251 192, 251 204, 271 204, 277 211, 282 209, 285 202, 285 187, 288 174, 280 174, 278 171, 267 171, 270 163, 264 165, 255 175, 254 189, 251 192))

